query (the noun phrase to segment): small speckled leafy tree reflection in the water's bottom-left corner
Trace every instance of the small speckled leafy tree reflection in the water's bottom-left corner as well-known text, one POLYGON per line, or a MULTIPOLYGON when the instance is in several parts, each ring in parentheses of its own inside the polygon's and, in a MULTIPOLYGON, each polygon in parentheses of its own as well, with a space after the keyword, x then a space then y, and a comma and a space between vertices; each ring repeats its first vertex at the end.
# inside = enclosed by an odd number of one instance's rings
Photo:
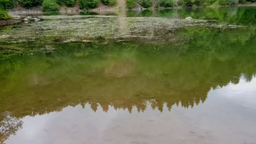
POLYGON ((0 143, 4 143, 10 135, 22 128, 23 122, 16 117, 7 116, 0 122, 0 143))

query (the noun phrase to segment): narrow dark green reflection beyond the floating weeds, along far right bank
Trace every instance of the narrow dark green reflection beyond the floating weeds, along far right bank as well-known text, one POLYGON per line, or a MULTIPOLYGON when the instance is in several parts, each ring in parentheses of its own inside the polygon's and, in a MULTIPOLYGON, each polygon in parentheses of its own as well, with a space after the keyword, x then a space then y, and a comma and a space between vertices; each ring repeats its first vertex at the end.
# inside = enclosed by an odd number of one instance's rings
POLYGON ((236 23, 237 25, 255 26, 255 7, 229 7, 229 8, 193 8, 193 9, 164 9, 164 10, 143 10, 127 11, 130 17, 171 17, 185 18, 188 16, 194 19, 212 19, 236 23))

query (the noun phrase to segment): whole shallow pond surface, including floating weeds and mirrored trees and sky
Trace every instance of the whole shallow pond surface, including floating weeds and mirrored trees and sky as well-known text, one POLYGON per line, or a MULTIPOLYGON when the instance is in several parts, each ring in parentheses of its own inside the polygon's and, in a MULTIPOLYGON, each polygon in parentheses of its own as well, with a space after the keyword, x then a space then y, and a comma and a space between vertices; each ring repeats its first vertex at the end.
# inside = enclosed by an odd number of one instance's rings
POLYGON ((229 9, 2 27, 0 143, 256 143, 256 8, 229 9))

